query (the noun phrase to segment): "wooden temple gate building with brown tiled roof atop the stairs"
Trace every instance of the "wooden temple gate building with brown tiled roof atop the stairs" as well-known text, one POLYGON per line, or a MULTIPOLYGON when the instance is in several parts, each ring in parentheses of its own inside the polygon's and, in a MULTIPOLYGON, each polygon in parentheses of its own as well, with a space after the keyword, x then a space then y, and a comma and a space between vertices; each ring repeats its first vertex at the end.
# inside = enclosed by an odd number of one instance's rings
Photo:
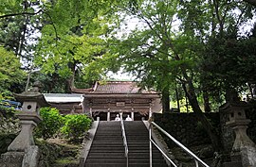
POLYGON ((97 82, 92 89, 72 89, 83 94, 83 112, 102 121, 115 120, 122 113, 132 120, 148 119, 150 111, 160 112, 161 102, 158 92, 142 90, 134 81, 97 82))

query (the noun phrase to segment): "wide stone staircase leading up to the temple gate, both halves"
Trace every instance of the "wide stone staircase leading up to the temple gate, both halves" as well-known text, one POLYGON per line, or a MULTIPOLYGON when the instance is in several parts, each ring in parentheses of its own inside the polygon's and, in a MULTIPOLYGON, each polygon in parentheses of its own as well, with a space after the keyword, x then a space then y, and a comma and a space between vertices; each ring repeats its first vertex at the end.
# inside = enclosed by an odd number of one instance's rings
MULTIPOLYGON (((129 167, 149 167, 149 135, 140 121, 124 122, 129 148, 129 167)), ((85 167, 126 167, 120 122, 99 123, 85 167)), ((153 166, 167 167, 160 152, 153 147, 153 166)))

